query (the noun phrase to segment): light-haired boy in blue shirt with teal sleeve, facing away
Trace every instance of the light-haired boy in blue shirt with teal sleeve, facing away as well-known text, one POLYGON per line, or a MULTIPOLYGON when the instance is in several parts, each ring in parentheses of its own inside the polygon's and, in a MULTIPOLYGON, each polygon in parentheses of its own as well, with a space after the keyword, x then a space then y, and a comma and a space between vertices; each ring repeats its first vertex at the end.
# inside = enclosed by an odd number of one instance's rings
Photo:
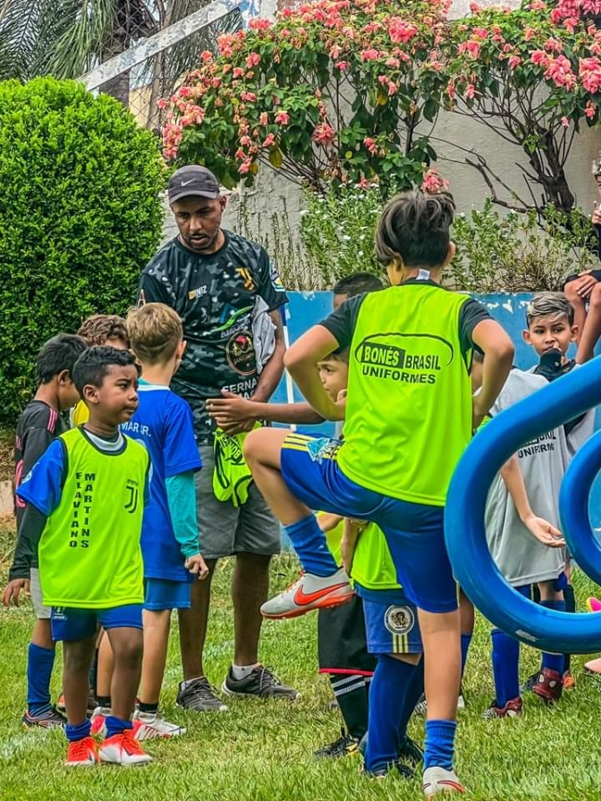
POLYGON ((152 461, 150 502, 142 524, 144 659, 137 736, 173 737, 185 729, 164 720, 158 701, 165 674, 171 612, 190 609, 190 582, 207 578, 199 552, 194 474, 202 467, 190 406, 169 389, 182 360, 182 321, 173 308, 147 303, 127 316, 140 361, 139 407, 122 430, 144 443, 152 461))

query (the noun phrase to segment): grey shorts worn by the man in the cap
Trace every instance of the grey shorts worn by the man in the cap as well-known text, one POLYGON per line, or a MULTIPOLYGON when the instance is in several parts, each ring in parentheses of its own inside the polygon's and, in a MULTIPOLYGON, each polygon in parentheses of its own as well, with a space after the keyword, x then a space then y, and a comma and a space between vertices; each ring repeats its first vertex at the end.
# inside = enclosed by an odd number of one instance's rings
POLYGON ((254 482, 249 499, 240 507, 217 501, 213 493, 215 459, 212 445, 199 446, 203 468, 195 475, 200 552, 205 559, 235 553, 273 556, 280 552, 280 524, 272 515, 254 482))

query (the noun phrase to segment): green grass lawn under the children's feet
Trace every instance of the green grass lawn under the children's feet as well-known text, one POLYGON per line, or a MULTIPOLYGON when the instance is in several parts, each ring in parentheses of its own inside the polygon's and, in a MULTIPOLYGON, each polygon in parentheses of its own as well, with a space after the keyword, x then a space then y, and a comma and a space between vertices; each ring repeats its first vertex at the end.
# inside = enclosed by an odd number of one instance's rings
MULTIPOLYGON (((0 528, 0 577, 6 576, 13 533, 0 528)), ((275 562, 274 588, 293 577, 292 558, 275 562)), ((214 606, 207 643, 209 679, 220 685, 233 647, 229 581, 224 562, 215 580, 214 606)), ((580 602, 593 587, 580 575, 580 602)), ((600 619, 601 620, 601 619, 600 619)), ((316 675, 316 618, 266 622, 263 661, 302 698, 289 702, 231 701, 229 712, 193 714, 174 707, 180 679, 176 630, 165 677, 165 716, 182 722, 188 733, 172 741, 153 740, 148 751, 155 762, 135 770, 103 767, 67 771, 65 746, 58 732, 23 731, 25 658, 32 613, 0 611, 0 801, 377 801, 421 797, 420 782, 397 777, 368 782, 359 775, 360 760, 317 762, 315 747, 336 738, 340 720, 327 711, 330 692, 316 675)), ((561 704, 545 709, 535 697, 525 701, 525 714, 508 721, 483 721, 480 713, 492 699, 487 624, 478 620, 465 679, 468 707, 461 712, 457 771, 478 801, 495 799, 601 798, 599 706, 601 684, 580 672, 584 657, 576 657, 575 689, 561 704)), ((526 677, 538 663, 537 654, 522 649, 526 677)), ((55 693, 60 671, 55 671, 55 693)), ((411 734, 423 737, 423 721, 411 724, 411 734)))

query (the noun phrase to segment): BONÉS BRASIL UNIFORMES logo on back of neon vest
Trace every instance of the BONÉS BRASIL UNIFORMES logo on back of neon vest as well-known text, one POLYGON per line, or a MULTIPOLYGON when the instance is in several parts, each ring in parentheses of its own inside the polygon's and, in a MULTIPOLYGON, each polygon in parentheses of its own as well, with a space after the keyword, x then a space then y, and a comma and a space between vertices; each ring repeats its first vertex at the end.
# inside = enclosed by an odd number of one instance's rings
POLYGON ((360 341, 354 358, 368 378, 405 384, 436 384, 453 361, 453 345, 428 334, 377 333, 360 341))

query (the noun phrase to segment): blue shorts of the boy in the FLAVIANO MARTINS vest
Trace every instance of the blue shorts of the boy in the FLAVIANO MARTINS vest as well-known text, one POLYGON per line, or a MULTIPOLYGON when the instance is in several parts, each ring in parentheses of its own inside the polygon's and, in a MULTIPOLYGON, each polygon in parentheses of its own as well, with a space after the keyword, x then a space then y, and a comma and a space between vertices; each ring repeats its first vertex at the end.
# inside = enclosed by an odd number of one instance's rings
POLYGON ((67 609, 53 606, 50 625, 55 642, 85 640, 102 628, 142 628, 142 604, 129 603, 112 609, 67 609))

